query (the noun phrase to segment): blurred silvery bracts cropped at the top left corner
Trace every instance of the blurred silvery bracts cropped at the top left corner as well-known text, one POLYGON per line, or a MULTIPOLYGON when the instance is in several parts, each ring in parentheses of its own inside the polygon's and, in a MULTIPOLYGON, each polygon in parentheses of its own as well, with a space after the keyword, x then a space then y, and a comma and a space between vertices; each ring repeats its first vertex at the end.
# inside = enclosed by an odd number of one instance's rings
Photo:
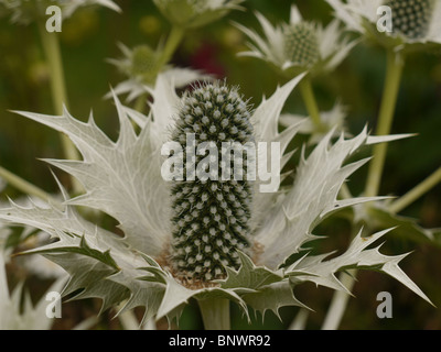
POLYGON ((111 0, 0 0, 7 12, 11 13, 12 22, 29 24, 35 20, 47 19, 46 9, 57 6, 63 19, 69 18, 78 8, 86 6, 103 6, 120 12, 121 9, 111 0))

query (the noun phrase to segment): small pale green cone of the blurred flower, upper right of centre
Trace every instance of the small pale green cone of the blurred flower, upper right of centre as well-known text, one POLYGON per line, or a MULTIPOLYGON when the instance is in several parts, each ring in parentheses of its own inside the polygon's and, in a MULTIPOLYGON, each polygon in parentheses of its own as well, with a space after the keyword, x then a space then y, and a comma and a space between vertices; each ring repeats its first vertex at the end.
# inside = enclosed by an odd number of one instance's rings
POLYGON ((312 23, 299 22, 284 28, 284 54, 292 63, 303 67, 319 61, 319 38, 312 23))

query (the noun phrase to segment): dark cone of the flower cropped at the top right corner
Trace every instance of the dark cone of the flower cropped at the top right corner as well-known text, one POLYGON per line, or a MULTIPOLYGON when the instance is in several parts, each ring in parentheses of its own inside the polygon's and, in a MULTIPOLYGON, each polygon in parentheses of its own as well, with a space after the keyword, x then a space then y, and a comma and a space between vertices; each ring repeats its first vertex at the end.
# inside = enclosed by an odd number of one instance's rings
POLYGON ((389 0, 394 33, 418 40, 427 34, 433 11, 433 0, 389 0))

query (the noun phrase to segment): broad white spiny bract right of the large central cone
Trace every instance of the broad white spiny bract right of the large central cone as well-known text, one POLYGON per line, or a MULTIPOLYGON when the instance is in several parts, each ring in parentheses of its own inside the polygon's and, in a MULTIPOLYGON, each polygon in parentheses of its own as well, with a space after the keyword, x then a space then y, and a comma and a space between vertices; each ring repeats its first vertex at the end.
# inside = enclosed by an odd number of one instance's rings
MULTIPOLYGON (((268 267, 277 267, 289 255, 298 252, 303 243, 314 239, 311 234, 314 227, 330 213, 343 207, 379 199, 337 200, 346 178, 368 161, 344 165, 351 155, 366 145, 368 135, 365 129, 354 139, 344 140, 342 135, 337 142, 331 144, 332 135, 333 131, 308 158, 302 157, 292 189, 270 209, 272 221, 257 234, 257 240, 266 249, 259 260, 268 267)), ((370 143, 383 141, 369 140, 370 143)))

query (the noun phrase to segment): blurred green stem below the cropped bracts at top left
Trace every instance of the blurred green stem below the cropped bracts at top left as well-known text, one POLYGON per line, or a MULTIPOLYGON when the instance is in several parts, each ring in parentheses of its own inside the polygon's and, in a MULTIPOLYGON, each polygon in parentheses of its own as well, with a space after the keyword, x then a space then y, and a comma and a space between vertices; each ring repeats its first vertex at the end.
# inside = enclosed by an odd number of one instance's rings
MULTIPOLYGON (((40 36, 44 54, 51 68, 51 91, 55 114, 63 116, 63 105, 67 108, 67 94, 64 79, 64 69, 57 33, 49 33, 43 22, 39 22, 40 36)), ((64 155, 67 160, 79 160, 78 152, 72 141, 64 134, 61 135, 64 155)), ((73 178, 72 186, 75 193, 80 193, 83 187, 73 178)))

